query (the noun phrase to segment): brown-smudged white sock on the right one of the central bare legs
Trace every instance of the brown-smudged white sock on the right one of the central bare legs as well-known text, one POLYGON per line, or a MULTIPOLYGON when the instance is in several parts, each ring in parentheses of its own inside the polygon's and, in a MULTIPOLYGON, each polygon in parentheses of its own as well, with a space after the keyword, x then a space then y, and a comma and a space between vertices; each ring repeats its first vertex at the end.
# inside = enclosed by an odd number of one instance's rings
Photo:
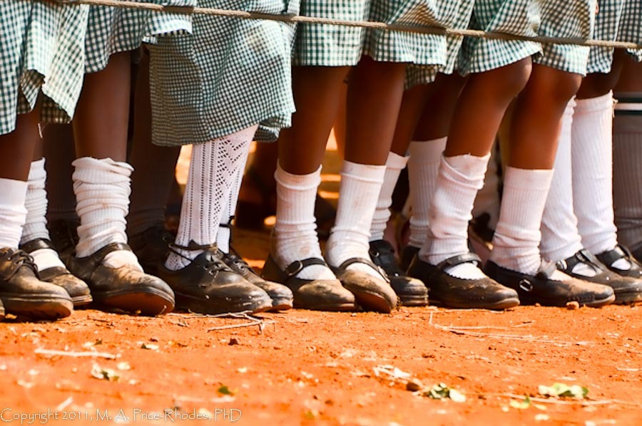
MULTIPOLYGON (((340 266, 352 257, 370 259, 370 224, 385 172, 386 166, 363 165, 344 160, 337 219, 325 249, 328 264, 340 266)), ((365 272, 381 279, 378 271, 365 264, 352 264, 347 269, 365 272)))

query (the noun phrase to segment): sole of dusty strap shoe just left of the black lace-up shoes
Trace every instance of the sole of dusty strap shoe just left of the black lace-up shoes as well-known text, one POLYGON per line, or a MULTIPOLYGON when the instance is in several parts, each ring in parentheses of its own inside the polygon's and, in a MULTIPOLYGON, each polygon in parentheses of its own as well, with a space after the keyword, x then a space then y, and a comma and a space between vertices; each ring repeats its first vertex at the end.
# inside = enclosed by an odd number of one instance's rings
POLYGON ((148 288, 136 288, 136 291, 116 290, 94 293, 93 300, 110 308, 127 312, 140 312, 143 316, 157 316, 173 311, 174 301, 165 291, 148 288))

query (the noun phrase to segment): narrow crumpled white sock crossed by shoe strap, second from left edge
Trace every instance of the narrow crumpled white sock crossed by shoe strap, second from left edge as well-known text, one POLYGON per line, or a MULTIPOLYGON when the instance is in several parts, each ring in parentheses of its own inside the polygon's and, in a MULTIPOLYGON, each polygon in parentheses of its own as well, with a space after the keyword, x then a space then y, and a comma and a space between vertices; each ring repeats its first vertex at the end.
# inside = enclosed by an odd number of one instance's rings
MULTIPOLYGON (((29 180, 27 181, 26 201, 24 204, 27 209, 27 215, 20 244, 25 244, 34 239, 49 239, 46 219, 47 192, 45 189, 47 173, 44 166, 45 160, 41 158, 31 162, 31 167, 29 167, 29 180)), ((41 271, 55 266, 65 267, 58 257, 58 253, 52 249, 34 250, 31 252, 31 256, 41 271)))

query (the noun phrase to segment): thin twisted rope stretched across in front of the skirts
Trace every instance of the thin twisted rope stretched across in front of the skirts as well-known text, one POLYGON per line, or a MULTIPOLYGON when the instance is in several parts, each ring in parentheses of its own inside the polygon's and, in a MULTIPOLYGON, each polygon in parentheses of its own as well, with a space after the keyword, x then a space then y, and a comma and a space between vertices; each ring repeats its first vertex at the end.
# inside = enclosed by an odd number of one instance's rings
POLYGON ((405 31, 409 33, 435 34, 441 36, 468 36, 476 38, 487 38, 490 40, 521 40, 534 41, 543 44, 572 44, 576 46, 607 47, 607 48, 625 48, 625 49, 642 49, 642 44, 630 43, 627 41, 608 41, 608 40, 583 40, 581 38, 561 38, 561 37, 526 37, 516 36, 509 33, 494 33, 490 31, 478 31, 470 29, 456 28, 437 28, 428 26, 410 26, 399 24, 386 24, 384 22, 374 21, 345 21, 342 19, 317 18, 312 16, 300 15, 275 15, 259 14, 256 12, 234 11, 226 9, 214 9, 207 7, 191 6, 163 6, 161 4, 140 3, 138 1, 120 1, 120 0, 58 0, 61 3, 69 4, 90 4, 92 6, 112 6, 124 9, 141 9, 147 11, 158 11, 172 14, 183 15, 209 15, 225 16, 238 19, 255 19, 265 21, 284 22, 286 24, 327 24, 337 26, 352 26, 361 28, 382 29, 385 31, 405 31))

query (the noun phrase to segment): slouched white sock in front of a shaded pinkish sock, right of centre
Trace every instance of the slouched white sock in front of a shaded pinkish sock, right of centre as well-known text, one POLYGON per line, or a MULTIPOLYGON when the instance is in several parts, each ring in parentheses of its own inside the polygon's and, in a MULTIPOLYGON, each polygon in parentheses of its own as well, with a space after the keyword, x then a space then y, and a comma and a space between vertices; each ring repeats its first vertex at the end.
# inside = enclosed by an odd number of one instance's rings
MULTIPOLYGON (((484 185, 490 155, 443 157, 439 164, 437 187, 429 209, 426 241, 419 259, 437 265, 458 254, 468 253, 468 222, 477 191, 484 185)), ((445 270, 462 279, 484 277, 474 264, 461 264, 445 270)))

